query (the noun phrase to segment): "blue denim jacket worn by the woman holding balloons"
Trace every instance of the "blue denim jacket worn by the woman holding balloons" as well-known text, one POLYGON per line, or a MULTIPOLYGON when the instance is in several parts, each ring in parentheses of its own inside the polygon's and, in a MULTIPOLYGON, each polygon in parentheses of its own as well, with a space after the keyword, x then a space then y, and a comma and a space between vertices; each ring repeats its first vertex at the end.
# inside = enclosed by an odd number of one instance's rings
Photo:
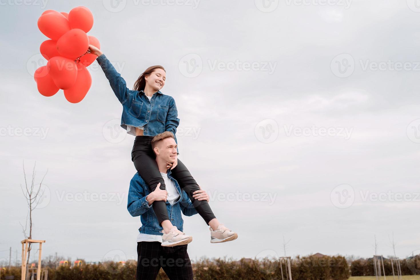
MULTIPOLYGON (((155 136, 165 131, 171 131, 176 139, 176 128, 179 125, 178 110, 175 100, 160 91, 148 99, 143 90, 130 90, 126 81, 121 77, 105 54, 96 58, 107 77, 115 96, 123 105, 121 127, 127 129, 127 125, 144 126, 144 136, 155 136)), ((178 152, 178 147, 176 148, 178 152)))

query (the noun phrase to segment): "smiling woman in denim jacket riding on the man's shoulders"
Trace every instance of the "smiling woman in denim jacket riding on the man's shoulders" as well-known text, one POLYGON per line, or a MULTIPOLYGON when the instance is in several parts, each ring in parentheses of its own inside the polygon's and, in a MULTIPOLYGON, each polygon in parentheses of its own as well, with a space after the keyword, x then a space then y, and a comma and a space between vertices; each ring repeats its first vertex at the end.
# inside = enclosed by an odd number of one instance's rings
MULTIPOLYGON (((150 191, 154 191, 159 183, 160 189, 165 190, 165 181, 157 167, 151 146, 153 136, 164 131, 172 132, 176 143, 178 143, 175 133, 179 119, 175 100, 160 92, 160 89, 165 85, 165 69, 160 65, 150 66, 136 80, 133 90, 130 90, 126 86, 126 81, 101 50, 93 45, 89 45, 89 50, 91 54, 97 55, 97 62, 101 65, 115 96, 123 105, 121 127, 136 137, 131 151, 134 167, 147 183, 150 191)), ((176 151, 179 154, 178 147, 176 151)), ((210 242, 220 243, 235 240, 238 237, 237 233, 220 224, 208 202, 202 197, 195 199, 195 196, 199 196, 199 194, 194 194, 194 192, 200 190, 200 187, 181 160, 176 160, 173 163, 168 162, 167 167, 171 168, 173 178, 184 189, 194 208, 210 226, 210 242)), ((169 220, 165 201, 154 201, 152 207, 164 233, 168 234, 173 225, 169 220)), ((184 233, 176 230, 173 234, 184 233)), ((192 238, 190 239, 192 240, 192 238)))

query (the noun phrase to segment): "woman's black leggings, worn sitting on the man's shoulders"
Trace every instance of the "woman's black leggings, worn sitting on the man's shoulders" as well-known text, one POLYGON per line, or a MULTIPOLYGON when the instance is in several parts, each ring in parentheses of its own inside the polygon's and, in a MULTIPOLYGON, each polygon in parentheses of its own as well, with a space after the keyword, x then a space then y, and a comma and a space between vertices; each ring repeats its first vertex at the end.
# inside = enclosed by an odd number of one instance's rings
MULTIPOLYGON (((152 150, 152 139, 153 136, 136 136, 133 150, 131 151, 131 160, 134 162, 134 167, 136 167, 140 177, 149 186, 150 191, 154 191, 158 183, 160 183, 160 189, 165 190, 165 181, 160 174, 159 167, 157 167, 155 152, 152 150)), ((208 225, 215 218, 215 215, 207 200, 198 200, 192 197, 194 191, 200 188, 181 160, 178 159, 178 164, 171 170, 171 173, 181 189, 188 195, 192 206, 208 225)), ((159 225, 164 220, 169 220, 165 201, 154 201, 152 207, 159 225)))

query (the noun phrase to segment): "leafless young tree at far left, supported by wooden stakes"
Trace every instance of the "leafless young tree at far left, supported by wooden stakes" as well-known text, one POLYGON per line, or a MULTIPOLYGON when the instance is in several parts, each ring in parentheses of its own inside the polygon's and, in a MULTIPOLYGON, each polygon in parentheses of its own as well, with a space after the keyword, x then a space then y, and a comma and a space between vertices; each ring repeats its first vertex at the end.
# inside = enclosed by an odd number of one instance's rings
MULTIPOLYGON (((25 198, 26 198, 26 202, 28 204, 28 215, 26 215, 26 222, 25 222, 25 228, 22 225, 22 229, 23 229, 23 233, 25 236, 25 239, 32 239, 32 211, 37 208, 38 203, 39 203, 39 195, 42 195, 41 191, 41 186, 42 186, 42 181, 44 181, 45 175, 47 175, 47 172, 45 172, 44 177, 42 177, 41 182, 39 183, 39 187, 35 186, 35 166, 37 165, 37 162, 34 163, 34 169, 32 170, 32 181, 29 183, 26 180, 26 173, 25 173, 25 164, 24 162, 22 162, 23 165, 23 169, 24 169, 24 178, 25 178, 25 188, 22 187, 21 184, 21 190, 22 193, 24 194, 25 198), (29 183, 29 185, 28 185, 29 183), (26 233, 27 229, 28 229, 28 217, 29 217, 29 235, 26 233)), ((26 259, 26 270, 29 269, 29 256, 31 254, 31 249, 32 249, 32 243, 29 242, 29 246, 28 246, 28 258, 26 259)), ((22 262, 24 262, 24 260, 22 260, 22 262)), ((28 274, 27 274, 28 275, 28 274)))

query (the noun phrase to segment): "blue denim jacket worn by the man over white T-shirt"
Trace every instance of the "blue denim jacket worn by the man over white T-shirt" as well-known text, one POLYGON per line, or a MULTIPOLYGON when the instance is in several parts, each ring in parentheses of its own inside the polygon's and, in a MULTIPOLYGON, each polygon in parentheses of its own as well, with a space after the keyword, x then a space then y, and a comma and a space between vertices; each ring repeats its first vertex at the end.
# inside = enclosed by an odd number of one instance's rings
MULTIPOLYGON (((184 190, 178 185, 178 182, 171 176, 171 170, 168 170, 168 178, 175 183, 175 188, 180 194, 180 197, 173 205, 166 201, 166 209, 172 225, 175 225, 178 230, 183 231, 184 220, 182 220, 181 212, 186 216, 197 214, 197 210, 192 205, 191 200, 184 190)), ((159 225, 152 205, 146 200, 147 195, 150 194, 149 187, 146 185, 139 173, 136 173, 130 181, 129 195, 127 199, 127 209, 131 216, 140 216, 142 226, 139 228, 140 233, 163 235, 160 231, 163 228, 159 225)))

